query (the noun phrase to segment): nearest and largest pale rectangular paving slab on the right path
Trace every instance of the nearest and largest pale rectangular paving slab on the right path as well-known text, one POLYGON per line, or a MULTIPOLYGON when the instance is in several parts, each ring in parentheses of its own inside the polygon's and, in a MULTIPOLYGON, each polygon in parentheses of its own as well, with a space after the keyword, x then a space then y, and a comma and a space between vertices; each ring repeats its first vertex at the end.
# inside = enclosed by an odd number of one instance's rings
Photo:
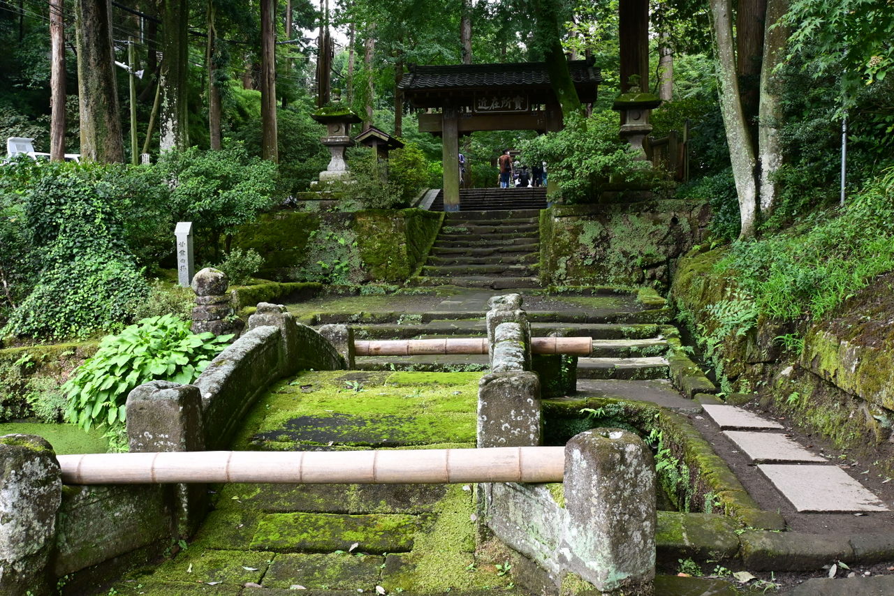
POLYGON ((838 466, 762 464, 757 467, 800 513, 889 510, 838 466))

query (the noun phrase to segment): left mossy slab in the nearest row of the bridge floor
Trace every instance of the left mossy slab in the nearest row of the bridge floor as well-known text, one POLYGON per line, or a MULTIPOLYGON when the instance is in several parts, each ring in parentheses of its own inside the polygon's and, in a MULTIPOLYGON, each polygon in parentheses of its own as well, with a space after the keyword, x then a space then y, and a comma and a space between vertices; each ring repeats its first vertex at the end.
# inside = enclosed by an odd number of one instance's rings
POLYGON ((273 552, 250 550, 181 550, 176 558, 158 567, 152 579, 228 585, 260 583, 274 556, 273 552))

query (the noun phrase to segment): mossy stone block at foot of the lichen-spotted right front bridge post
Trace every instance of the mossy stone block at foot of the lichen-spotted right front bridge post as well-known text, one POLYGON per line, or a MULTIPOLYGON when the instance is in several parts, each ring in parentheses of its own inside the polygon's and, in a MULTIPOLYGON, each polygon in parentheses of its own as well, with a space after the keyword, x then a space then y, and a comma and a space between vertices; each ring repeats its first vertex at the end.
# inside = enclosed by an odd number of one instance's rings
POLYGON ((655 531, 658 558, 727 559, 738 553, 736 524, 730 517, 709 513, 659 511, 655 531))

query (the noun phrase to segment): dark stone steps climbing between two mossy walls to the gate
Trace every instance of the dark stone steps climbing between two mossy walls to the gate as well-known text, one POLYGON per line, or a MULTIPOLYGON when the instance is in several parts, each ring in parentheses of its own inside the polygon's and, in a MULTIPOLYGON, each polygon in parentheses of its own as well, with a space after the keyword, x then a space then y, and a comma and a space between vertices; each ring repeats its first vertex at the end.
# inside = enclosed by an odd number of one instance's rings
POLYGON ((417 285, 538 287, 538 218, 528 209, 446 214, 417 285))

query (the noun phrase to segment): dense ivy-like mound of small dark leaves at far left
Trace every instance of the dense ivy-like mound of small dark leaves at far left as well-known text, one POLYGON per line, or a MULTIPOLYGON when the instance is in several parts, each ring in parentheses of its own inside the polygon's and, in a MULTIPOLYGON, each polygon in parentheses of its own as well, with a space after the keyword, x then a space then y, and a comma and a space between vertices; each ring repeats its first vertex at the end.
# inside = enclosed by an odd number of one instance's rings
POLYGON ((4 333, 83 337, 114 329, 148 294, 122 238, 105 172, 97 165, 50 164, 22 190, 20 239, 40 273, 4 333))

